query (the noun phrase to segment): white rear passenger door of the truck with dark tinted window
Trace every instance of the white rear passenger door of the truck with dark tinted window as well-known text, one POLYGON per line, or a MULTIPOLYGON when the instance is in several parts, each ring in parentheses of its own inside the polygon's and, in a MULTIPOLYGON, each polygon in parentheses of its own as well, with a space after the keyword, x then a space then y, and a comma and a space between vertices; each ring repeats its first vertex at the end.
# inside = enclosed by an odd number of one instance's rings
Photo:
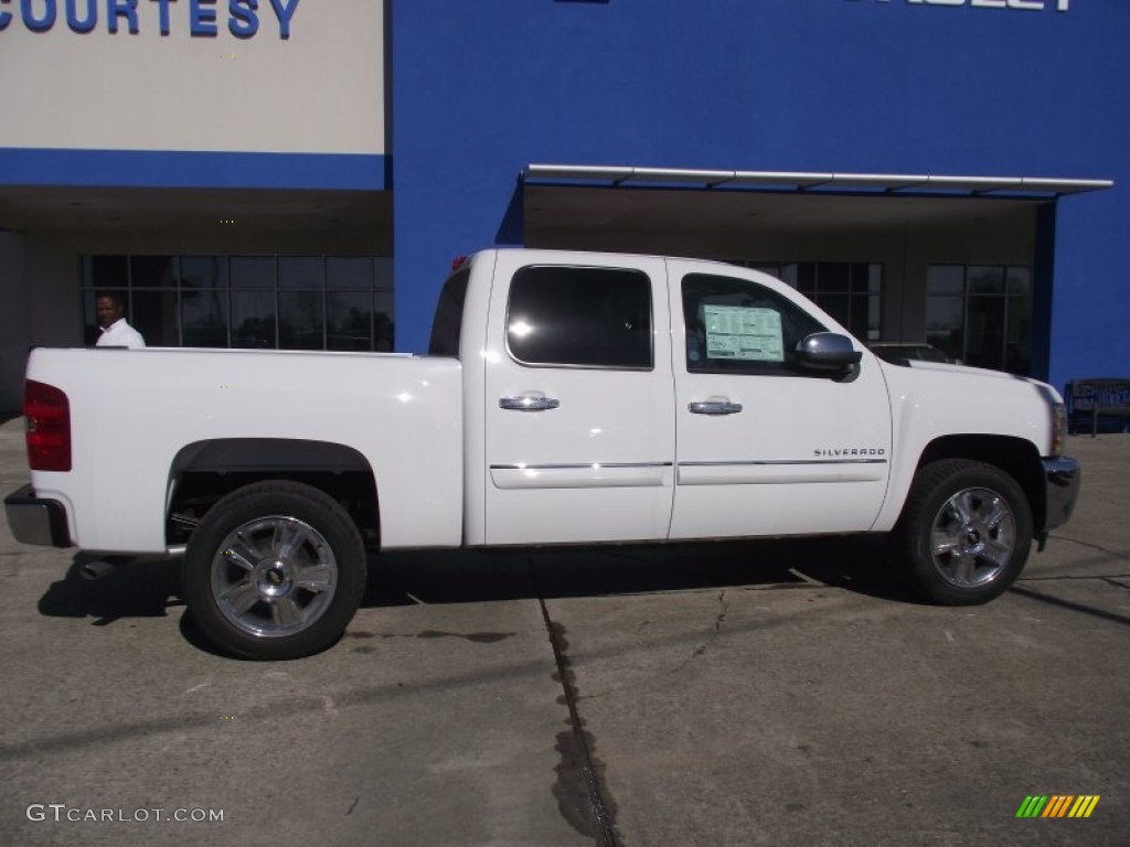
POLYGON ((660 259, 498 253, 485 351, 486 543, 666 538, 668 308, 660 259))

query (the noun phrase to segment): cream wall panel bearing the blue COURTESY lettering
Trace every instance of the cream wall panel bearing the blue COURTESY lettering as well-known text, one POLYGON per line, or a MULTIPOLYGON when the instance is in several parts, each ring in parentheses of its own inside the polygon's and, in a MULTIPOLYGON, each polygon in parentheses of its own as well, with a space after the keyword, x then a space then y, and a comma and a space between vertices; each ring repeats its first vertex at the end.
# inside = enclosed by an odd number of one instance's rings
POLYGON ((384 3, 118 6, 0 5, 0 148, 385 152, 384 3))

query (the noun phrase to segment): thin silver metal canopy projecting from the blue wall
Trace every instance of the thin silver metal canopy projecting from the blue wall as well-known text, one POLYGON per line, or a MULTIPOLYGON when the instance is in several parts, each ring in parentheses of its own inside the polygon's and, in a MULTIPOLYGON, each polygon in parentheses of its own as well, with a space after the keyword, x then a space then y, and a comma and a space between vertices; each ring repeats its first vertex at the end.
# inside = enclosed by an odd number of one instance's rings
POLYGON ((1113 187, 1113 180, 1067 180, 1034 176, 945 176, 937 174, 833 174, 779 171, 697 171, 668 167, 603 165, 527 165, 522 180, 537 183, 588 183, 643 187, 793 190, 802 192, 867 191, 906 194, 1010 194, 1061 197, 1113 187))

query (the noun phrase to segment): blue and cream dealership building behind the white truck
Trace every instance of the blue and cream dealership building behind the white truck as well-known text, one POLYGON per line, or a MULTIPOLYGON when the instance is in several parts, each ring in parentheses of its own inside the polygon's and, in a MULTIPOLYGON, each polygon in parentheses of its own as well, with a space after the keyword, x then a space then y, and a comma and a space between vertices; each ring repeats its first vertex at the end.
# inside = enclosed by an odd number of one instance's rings
POLYGON ((495 245, 1130 376, 1127 44, 1119 0, 0 0, 0 411, 95 291, 150 346, 420 352, 495 245))

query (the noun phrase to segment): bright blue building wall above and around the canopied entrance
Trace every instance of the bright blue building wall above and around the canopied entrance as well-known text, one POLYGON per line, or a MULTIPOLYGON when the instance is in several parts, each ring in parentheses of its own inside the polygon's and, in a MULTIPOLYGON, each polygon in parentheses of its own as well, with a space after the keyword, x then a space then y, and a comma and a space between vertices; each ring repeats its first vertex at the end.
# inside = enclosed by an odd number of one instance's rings
POLYGON ((1050 377, 1128 369, 1130 3, 391 3, 401 349, 544 161, 1114 180, 1055 215, 1050 377))

